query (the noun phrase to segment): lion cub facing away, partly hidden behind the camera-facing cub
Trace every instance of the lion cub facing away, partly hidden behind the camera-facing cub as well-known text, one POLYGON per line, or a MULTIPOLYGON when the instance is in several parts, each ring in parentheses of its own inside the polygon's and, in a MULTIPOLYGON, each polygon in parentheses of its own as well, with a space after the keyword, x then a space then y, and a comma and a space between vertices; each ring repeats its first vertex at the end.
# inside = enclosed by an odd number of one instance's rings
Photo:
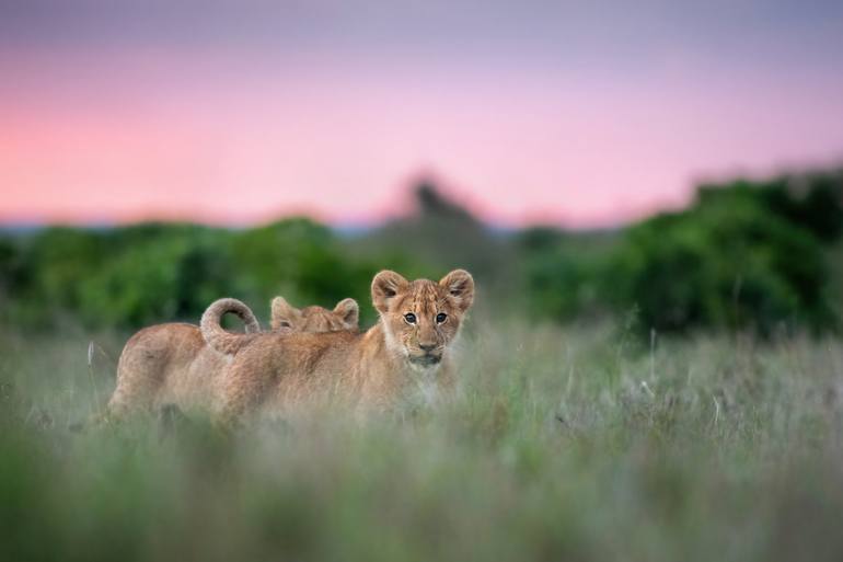
MULTIPOLYGON (((247 334, 261 331, 254 313, 236 299, 220 299, 203 314, 201 328, 166 323, 136 333, 123 348, 117 364, 117 388, 108 402, 108 415, 162 404, 193 406, 206 403, 227 359, 206 344, 236 337, 220 325, 227 313, 236 314, 247 334)), ((278 333, 328 332, 357 329, 359 308, 354 299, 342 300, 332 310, 322 307, 297 309, 282 297, 272 302, 272 326, 278 333)))

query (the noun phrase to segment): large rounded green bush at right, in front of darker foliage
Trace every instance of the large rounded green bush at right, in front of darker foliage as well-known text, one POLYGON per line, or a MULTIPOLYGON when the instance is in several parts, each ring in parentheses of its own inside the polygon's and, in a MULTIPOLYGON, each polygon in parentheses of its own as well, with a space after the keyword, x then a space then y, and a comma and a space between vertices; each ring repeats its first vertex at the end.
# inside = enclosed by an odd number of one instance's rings
POLYGON ((603 277, 607 300, 637 307, 647 330, 834 322, 822 245, 752 197, 703 198, 630 229, 603 277))

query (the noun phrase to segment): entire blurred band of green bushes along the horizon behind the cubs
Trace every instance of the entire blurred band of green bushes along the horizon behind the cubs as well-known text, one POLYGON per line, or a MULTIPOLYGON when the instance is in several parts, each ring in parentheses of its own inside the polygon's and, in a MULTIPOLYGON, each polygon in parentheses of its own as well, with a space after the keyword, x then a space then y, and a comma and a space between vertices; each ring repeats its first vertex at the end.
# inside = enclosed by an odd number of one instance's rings
POLYGON ((840 171, 702 186, 682 211, 607 232, 492 231, 428 184, 416 202, 411 217, 355 237, 303 218, 247 230, 139 225, 7 234, 0 314, 34 330, 137 328, 195 321, 220 296, 244 299, 265 318, 281 294, 324 306, 351 296, 372 321, 366 302, 376 271, 436 277, 459 265, 475 273, 485 296, 507 295, 511 309, 559 322, 611 316, 645 334, 840 325, 840 171))

